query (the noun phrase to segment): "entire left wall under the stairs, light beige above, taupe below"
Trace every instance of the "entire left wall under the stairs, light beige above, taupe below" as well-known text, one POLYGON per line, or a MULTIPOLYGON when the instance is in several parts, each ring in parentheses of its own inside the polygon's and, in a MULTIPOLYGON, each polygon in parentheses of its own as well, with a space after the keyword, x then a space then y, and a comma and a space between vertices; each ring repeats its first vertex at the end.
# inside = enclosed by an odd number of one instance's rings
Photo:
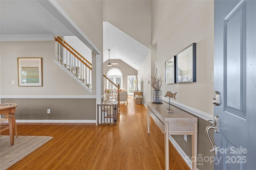
MULTIPOLYGON (((96 119, 95 94, 90 94, 54 63, 55 41, 1 41, 0 46, 1 103, 18 104, 16 119, 96 119), (43 58, 43 86, 18 86, 18 57, 43 58), (47 109, 51 109, 50 114, 47 109)), ((95 86, 95 78, 93 82, 95 86)))

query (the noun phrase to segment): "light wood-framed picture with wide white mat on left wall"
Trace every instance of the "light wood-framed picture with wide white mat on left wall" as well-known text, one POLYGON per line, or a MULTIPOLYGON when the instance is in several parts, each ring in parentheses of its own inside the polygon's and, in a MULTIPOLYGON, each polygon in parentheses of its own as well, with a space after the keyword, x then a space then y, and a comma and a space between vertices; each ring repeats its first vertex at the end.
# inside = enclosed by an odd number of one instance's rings
POLYGON ((43 59, 17 58, 18 86, 43 86, 43 59))

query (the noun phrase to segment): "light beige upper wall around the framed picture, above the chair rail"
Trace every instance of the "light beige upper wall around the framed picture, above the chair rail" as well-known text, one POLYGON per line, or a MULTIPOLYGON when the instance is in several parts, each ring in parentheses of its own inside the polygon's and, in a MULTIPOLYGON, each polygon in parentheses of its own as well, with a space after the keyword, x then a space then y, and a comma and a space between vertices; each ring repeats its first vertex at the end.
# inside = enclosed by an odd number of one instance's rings
POLYGON ((54 63, 54 59, 57 59, 56 41, 1 41, 0 46, 2 96, 95 95, 54 63), (18 57, 43 58, 43 86, 18 86, 18 57), (14 85, 11 84, 12 80, 14 85))

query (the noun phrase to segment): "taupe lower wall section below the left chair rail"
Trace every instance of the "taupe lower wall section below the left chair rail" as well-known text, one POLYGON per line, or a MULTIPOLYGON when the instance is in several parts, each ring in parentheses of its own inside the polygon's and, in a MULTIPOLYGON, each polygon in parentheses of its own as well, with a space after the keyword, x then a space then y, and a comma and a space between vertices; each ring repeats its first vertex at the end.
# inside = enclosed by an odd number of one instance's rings
POLYGON ((92 107, 96 99, 12 98, 2 99, 2 103, 18 105, 17 120, 96 120, 96 107, 92 107))

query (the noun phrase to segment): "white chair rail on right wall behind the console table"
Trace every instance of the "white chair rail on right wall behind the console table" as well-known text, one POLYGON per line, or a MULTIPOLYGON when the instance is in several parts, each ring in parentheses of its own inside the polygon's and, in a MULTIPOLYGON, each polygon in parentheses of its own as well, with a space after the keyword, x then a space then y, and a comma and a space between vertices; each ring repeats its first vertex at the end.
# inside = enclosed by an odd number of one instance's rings
MULTIPOLYGON (((167 99, 167 98, 163 98, 163 97, 162 97, 162 100, 163 100, 164 102, 169 103, 169 99, 167 99)), ((205 113, 205 112, 203 112, 203 111, 200 111, 200 110, 194 109, 194 108, 192 108, 192 107, 189 107, 189 106, 180 104, 180 103, 178 103, 178 102, 174 102, 174 101, 172 101, 172 100, 170 101, 170 103, 171 103, 172 105, 174 105, 174 106, 176 106, 176 107, 178 107, 178 108, 180 108, 180 109, 182 109, 182 110, 184 110, 184 111, 187 111, 188 113, 191 113, 192 115, 195 115, 195 116, 197 116, 197 117, 200 117, 201 119, 204 119, 204 120, 206 120, 206 121, 208 121, 208 120, 213 120, 213 115, 210 115, 209 113, 205 113)))

